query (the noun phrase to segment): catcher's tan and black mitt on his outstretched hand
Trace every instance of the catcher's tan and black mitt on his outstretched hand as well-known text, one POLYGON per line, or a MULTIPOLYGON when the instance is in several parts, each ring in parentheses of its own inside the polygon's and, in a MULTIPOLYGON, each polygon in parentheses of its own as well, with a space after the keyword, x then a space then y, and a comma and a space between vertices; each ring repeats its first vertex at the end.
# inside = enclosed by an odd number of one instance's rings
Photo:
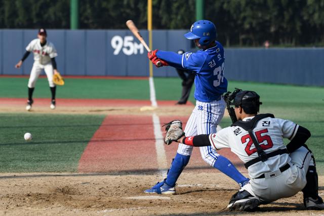
POLYGON ((164 138, 164 142, 167 145, 170 145, 173 141, 177 141, 180 137, 185 135, 182 131, 182 122, 180 120, 170 121, 163 126, 166 126, 167 134, 164 138))

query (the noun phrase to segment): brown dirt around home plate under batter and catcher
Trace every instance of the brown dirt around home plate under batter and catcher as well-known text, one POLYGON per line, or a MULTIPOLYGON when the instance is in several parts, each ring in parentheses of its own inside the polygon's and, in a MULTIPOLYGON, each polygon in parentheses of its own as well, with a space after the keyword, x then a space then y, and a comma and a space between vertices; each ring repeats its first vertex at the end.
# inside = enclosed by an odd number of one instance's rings
MULTIPOLYGON (((302 194, 261 205, 257 212, 227 212, 238 187, 216 172, 185 170, 176 195, 149 196, 143 190, 158 175, 1 174, 2 215, 320 215, 303 210, 302 194)), ((324 179, 320 177, 320 185, 324 179)), ((321 187, 321 193, 323 188, 321 187)))

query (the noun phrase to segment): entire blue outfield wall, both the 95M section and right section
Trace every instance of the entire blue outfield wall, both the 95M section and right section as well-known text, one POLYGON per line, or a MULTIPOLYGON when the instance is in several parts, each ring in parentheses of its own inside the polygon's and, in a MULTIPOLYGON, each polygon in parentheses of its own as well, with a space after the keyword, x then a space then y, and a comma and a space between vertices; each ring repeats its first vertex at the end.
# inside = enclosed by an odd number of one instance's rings
MULTIPOLYGON (((147 30, 140 30, 148 41, 147 30)), ((176 52, 194 50, 184 38, 187 30, 153 30, 153 48, 176 52)), ((0 74, 29 74, 33 58, 21 69, 21 59, 37 30, 0 30, 0 74)), ((48 40, 58 52, 63 75, 148 76, 147 52, 137 38, 122 30, 48 30, 48 40)), ((225 48, 225 76, 230 80, 324 86, 324 49, 225 48)), ((154 76, 174 77, 172 67, 153 69, 154 76)))

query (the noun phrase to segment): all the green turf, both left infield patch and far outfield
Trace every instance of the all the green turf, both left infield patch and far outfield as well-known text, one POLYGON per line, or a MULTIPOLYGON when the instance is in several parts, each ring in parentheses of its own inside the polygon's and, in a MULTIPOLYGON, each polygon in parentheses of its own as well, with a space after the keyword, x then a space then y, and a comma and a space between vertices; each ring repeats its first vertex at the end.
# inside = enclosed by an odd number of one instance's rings
MULTIPOLYGON (((157 100, 180 98, 179 78, 154 78, 154 84, 157 100)), ((312 133, 307 144, 314 152, 317 166, 324 170, 324 88, 229 81, 228 90, 235 87, 259 93, 263 102, 260 112, 273 113, 307 127, 312 133)), ((27 78, 0 78, 0 101, 2 97, 26 96, 27 78)), ((37 81, 34 97, 50 97, 45 78, 37 81)), ((58 87, 57 97, 149 100, 149 84, 148 80, 69 78, 66 85, 58 87)), ((193 91, 190 101, 194 103, 193 91)), ((0 171, 76 171, 80 155, 103 118, 103 115, 0 114, 0 171), (32 133, 35 141, 26 143, 23 140, 26 132, 32 133)), ((223 127, 229 124, 229 118, 221 122, 223 127)))

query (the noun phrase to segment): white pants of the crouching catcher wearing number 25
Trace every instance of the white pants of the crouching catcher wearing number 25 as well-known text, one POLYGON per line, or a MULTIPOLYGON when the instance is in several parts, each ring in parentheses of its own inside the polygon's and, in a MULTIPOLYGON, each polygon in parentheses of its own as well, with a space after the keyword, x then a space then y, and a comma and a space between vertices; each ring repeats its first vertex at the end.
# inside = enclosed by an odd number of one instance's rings
POLYGON ((284 172, 275 170, 266 174, 262 179, 251 179, 250 184, 245 185, 240 190, 246 190, 253 196, 257 196, 264 203, 269 203, 284 197, 291 197, 301 191, 307 181, 306 174, 308 167, 314 165, 311 153, 300 147, 290 154, 291 167, 284 172), (275 173, 274 177, 270 177, 275 173))

